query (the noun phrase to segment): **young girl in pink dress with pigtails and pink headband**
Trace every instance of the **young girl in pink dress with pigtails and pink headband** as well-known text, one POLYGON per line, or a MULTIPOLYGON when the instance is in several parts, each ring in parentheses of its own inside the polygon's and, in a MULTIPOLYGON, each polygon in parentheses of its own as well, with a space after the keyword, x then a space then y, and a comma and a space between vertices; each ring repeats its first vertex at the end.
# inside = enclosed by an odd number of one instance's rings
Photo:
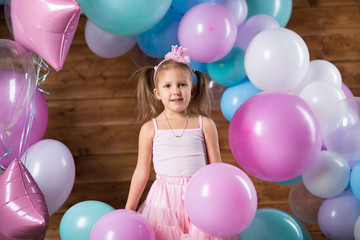
POLYGON ((140 119, 137 165, 126 209, 135 210, 149 179, 151 160, 156 172, 139 212, 152 225, 157 240, 218 239, 191 224, 184 194, 191 176, 209 163, 221 162, 218 134, 209 118, 206 79, 193 70, 186 49, 177 46, 155 68, 135 73, 140 119))

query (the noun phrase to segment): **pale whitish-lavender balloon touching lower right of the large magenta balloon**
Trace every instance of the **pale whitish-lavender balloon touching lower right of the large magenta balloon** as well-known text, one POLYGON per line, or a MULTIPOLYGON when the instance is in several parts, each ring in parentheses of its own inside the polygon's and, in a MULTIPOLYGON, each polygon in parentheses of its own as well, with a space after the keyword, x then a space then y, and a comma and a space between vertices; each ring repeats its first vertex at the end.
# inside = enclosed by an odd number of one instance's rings
POLYGON ((349 164, 331 151, 321 151, 315 162, 303 173, 306 189, 320 198, 335 197, 343 192, 349 178, 349 164))

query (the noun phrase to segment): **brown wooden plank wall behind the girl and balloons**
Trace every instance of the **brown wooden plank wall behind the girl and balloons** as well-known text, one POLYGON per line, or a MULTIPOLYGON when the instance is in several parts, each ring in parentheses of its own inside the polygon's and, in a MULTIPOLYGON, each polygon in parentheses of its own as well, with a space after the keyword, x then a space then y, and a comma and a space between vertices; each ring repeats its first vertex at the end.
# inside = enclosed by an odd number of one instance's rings
MULTIPOLYGON (((0 37, 13 39, 3 13, 0 20, 0 37)), ((45 138, 63 142, 76 162, 73 191, 51 216, 48 240, 60 239, 61 218, 78 202, 98 200, 114 208, 123 208, 136 163, 140 126, 136 124, 134 111, 136 83, 128 80, 137 69, 132 59, 138 54, 133 49, 115 59, 94 55, 85 42, 85 22, 86 17, 82 16, 63 69, 59 72, 51 69, 42 85, 51 93, 46 96, 49 124, 45 138)), ((334 63, 343 82, 355 96, 360 96, 360 0, 294 0, 287 28, 303 37, 312 60, 325 59, 334 63)), ((237 165, 227 139, 229 123, 220 112, 220 92, 214 90, 212 117, 218 127, 223 161, 237 165)), ((259 208, 290 211, 289 186, 254 178, 253 181, 259 208)), ((306 224, 306 227, 313 239, 326 239, 316 224, 306 224)))

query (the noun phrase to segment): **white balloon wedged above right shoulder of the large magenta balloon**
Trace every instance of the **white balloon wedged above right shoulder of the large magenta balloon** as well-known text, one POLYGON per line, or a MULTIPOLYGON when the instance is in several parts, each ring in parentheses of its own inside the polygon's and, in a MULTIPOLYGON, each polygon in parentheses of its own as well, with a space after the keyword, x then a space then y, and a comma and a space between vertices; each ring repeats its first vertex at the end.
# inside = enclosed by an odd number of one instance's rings
POLYGON ((314 112, 323 129, 328 111, 332 106, 345 99, 344 91, 333 83, 317 81, 308 84, 299 95, 314 112))

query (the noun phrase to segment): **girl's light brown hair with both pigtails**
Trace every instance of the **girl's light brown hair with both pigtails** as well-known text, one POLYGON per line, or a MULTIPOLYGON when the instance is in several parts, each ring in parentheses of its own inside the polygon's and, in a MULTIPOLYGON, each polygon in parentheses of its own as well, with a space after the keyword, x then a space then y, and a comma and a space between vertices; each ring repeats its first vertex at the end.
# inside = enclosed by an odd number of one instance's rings
MULTIPOLYGON (((138 119, 141 122, 149 121, 150 119, 158 116, 163 110, 164 106, 160 100, 158 100, 154 94, 155 83, 158 82, 158 78, 162 72, 169 69, 180 69, 189 74, 191 81, 193 82, 194 76, 191 67, 186 63, 175 62, 173 60, 166 60, 162 62, 154 76, 154 67, 143 67, 138 69, 131 79, 137 79, 137 101, 138 101, 138 119), (155 80, 154 80, 155 77, 155 80)), ((211 112, 211 95, 208 90, 208 83, 205 75, 200 71, 194 72, 197 77, 197 83, 192 89, 192 96, 188 106, 188 112, 190 115, 202 115, 209 117, 211 112)))

